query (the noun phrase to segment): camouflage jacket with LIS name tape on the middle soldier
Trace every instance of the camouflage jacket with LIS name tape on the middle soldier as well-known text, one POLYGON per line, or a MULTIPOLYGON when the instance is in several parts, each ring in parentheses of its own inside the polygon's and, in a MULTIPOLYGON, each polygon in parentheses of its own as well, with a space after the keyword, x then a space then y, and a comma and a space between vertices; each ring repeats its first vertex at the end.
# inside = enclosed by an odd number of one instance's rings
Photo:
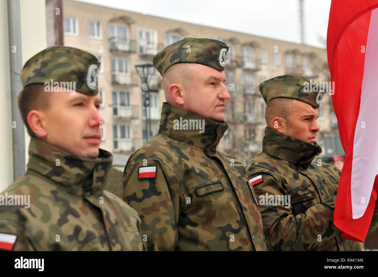
POLYGON ((266 250, 245 166, 216 149, 228 124, 166 103, 161 114, 158 134, 130 156, 123 179, 147 250, 266 250), (204 132, 177 129, 180 118, 203 122, 204 132))

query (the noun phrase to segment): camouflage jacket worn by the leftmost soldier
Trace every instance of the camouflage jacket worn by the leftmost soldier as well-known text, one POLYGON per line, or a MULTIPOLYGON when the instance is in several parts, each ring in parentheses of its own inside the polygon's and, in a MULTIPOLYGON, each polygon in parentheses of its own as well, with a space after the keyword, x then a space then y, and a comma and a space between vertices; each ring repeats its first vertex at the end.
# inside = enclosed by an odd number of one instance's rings
POLYGON ((3 249, 144 249, 135 210, 103 190, 113 161, 109 152, 100 149, 98 158, 82 158, 31 138, 29 155, 26 175, 1 193, 30 200, 29 208, 20 202, 0 206, 0 237, 8 238, 3 249))

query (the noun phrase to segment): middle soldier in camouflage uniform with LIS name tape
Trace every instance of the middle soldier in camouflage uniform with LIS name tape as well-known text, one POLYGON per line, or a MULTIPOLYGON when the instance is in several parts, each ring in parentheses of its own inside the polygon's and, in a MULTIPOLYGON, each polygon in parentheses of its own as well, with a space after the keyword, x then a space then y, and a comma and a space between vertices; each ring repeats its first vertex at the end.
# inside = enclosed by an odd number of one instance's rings
POLYGON ((228 128, 227 51, 218 40, 185 38, 153 59, 168 103, 158 134, 127 161, 123 194, 141 217, 147 250, 266 250, 245 166, 217 150, 228 128), (195 122, 203 129, 186 125, 195 122))

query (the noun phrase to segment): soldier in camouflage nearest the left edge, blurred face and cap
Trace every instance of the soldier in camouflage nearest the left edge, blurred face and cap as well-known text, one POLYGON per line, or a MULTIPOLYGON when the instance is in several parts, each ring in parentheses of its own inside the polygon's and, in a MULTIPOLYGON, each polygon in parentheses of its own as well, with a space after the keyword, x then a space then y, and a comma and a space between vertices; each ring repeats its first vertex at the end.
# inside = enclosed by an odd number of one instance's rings
POLYGON ((64 46, 49 47, 26 62, 20 75, 24 90, 19 107, 32 136, 28 169, 1 195, 26 195, 24 199, 28 196, 30 201, 26 207, 20 202, 0 206, 0 249, 143 251, 138 214, 103 190, 113 158, 98 148, 103 121, 98 112, 98 67, 92 54, 64 46), (36 85, 51 79, 75 82, 76 92, 59 86, 59 91, 46 92, 43 85, 36 85), (27 93, 34 96, 28 98, 27 93), (63 105, 57 105, 58 98, 63 105), (42 108, 44 102, 49 102, 47 108, 42 108), (23 114, 25 105, 31 111, 23 114), (61 116, 63 122, 49 121, 52 115, 61 116), (80 132, 77 126, 82 127, 80 132), (52 133, 53 127, 65 132, 52 133), (51 141, 53 135, 64 141, 51 141), (68 152, 70 147, 73 150, 68 152))

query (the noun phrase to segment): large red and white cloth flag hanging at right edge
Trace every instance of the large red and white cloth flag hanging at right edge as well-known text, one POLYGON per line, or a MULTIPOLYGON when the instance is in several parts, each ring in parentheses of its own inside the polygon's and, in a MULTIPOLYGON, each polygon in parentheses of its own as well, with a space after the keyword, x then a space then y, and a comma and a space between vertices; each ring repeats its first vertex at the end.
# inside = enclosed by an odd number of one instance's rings
POLYGON ((327 55, 345 150, 334 224, 364 241, 378 192, 378 0, 332 0, 327 55))

